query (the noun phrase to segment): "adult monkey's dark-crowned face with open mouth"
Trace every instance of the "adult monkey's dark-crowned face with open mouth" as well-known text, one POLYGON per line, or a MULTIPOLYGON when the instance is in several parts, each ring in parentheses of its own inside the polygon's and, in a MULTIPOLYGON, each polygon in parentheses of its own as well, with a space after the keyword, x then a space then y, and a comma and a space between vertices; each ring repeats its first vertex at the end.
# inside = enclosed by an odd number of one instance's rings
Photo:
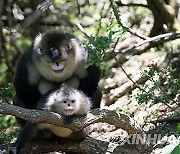
POLYGON ((68 69, 74 71, 77 44, 78 41, 72 36, 57 31, 39 35, 34 41, 34 59, 39 69, 42 69, 40 64, 48 73, 60 74, 68 69))

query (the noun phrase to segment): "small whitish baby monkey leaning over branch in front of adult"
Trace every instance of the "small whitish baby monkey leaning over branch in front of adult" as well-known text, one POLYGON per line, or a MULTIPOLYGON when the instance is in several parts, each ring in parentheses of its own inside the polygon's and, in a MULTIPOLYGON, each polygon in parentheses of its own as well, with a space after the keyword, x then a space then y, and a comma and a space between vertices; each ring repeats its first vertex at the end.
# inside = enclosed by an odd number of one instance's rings
MULTIPOLYGON (((86 115, 91 109, 91 100, 83 92, 63 84, 60 89, 45 94, 36 109, 61 114, 67 123, 74 116, 86 115)), ((69 128, 52 124, 27 122, 18 136, 16 148, 10 153, 19 154, 21 148, 36 136, 37 131, 43 129, 49 129, 58 137, 74 140, 83 139, 88 135, 85 129, 74 132, 69 128)))

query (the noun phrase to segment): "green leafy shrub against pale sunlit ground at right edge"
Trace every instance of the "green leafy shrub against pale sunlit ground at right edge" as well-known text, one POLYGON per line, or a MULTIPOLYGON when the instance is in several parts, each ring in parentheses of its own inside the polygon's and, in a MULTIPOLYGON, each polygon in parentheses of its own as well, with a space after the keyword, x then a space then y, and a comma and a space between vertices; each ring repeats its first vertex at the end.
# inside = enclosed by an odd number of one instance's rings
POLYGON ((148 78, 149 82, 141 86, 141 89, 134 95, 139 103, 168 104, 177 94, 180 93, 180 79, 177 76, 177 68, 171 66, 157 70, 151 66, 142 72, 143 78, 148 78))

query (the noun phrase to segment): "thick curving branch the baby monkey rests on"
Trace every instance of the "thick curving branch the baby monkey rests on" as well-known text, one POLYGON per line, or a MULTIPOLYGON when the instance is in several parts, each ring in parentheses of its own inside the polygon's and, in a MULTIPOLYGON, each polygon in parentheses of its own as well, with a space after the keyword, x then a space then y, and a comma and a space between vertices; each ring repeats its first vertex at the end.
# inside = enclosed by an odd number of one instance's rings
POLYGON ((2 101, 0 102, 0 113, 14 115, 31 122, 63 126, 72 130, 80 130, 98 122, 107 122, 126 130, 129 134, 143 134, 139 125, 129 116, 104 109, 92 110, 86 117, 75 117, 72 123, 68 125, 63 124, 62 116, 57 113, 24 109, 2 101))

